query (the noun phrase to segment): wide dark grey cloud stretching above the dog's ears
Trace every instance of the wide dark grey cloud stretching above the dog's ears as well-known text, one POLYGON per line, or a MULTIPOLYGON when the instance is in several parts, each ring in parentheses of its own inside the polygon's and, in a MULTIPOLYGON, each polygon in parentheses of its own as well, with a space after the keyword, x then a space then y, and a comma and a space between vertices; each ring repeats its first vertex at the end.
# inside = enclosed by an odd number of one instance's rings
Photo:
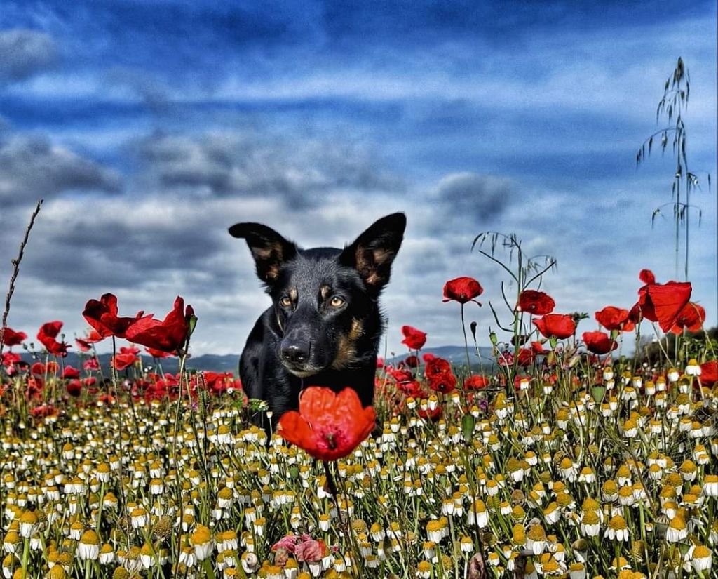
POLYGON ((277 195, 294 207, 312 206, 332 190, 402 190, 399 177, 378 168, 360 147, 253 134, 199 137, 156 134, 139 144, 150 178, 163 187, 227 197, 277 195))

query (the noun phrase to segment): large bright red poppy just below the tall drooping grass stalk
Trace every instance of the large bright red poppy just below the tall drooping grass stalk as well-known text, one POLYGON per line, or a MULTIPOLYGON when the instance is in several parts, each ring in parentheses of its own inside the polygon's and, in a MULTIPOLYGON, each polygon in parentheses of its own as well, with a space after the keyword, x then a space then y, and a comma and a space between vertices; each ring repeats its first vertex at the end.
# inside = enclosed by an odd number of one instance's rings
POLYGON ((676 323, 681 310, 691 299, 690 282, 667 282, 657 284, 648 269, 640 272, 645 285, 638 290, 638 303, 630 311, 630 318, 638 323, 641 318, 658 322, 661 330, 667 332, 676 323))

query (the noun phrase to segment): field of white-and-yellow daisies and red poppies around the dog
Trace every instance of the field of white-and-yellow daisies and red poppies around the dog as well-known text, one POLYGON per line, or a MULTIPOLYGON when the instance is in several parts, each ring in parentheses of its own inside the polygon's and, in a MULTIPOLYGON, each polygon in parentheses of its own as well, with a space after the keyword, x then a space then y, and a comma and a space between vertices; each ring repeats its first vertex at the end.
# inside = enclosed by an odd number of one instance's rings
POLYGON ((587 320, 526 279, 505 331, 483 335, 464 324, 480 284, 447 282, 469 365, 422 354, 431 336, 404 326, 409 352, 378 364, 373 409, 310 388, 279 432, 252 425, 261 402, 235 376, 190 369, 182 298, 162 321, 90 300, 78 369, 62 323, 37 348, 4 328, 3 576, 714 576, 717 345, 691 284, 644 270, 633 307, 587 320), (641 331, 672 338, 623 355, 641 331), (169 353, 177 375, 159 371, 169 353))

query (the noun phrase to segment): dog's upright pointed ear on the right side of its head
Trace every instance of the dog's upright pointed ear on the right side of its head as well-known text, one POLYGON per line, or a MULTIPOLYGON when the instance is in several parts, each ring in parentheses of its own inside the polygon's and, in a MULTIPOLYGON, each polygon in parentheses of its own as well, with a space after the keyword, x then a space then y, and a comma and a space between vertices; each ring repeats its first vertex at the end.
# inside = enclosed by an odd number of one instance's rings
POLYGON ((344 248, 342 264, 355 267, 366 286, 377 293, 389 281, 391 264, 404 239, 406 216, 392 213, 373 223, 356 241, 344 248))

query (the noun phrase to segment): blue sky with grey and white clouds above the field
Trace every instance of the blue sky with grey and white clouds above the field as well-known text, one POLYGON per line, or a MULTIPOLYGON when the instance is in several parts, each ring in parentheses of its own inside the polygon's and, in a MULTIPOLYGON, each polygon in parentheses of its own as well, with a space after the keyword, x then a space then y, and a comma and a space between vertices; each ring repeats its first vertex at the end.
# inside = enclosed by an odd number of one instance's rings
MULTIPOLYGON (((238 353, 267 298, 228 226, 341 246, 395 210, 409 227, 383 295, 389 350, 404 323, 462 342, 446 279, 499 302, 505 278, 470 251, 482 231, 556 257, 557 311, 630 307, 640 269, 675 277, 672 221, 651 226, 673 161, 637 169, 635 152, 679 56, 703 179, 689 279, 717 323, 714 2, 78 4, 0 11, 0 280, 45 198, 12 328, 80 334, 103 292, 128 315, 180 294, 195 352, 238 353)), ((486 343, 488 307, 470 316, 486 343)))

